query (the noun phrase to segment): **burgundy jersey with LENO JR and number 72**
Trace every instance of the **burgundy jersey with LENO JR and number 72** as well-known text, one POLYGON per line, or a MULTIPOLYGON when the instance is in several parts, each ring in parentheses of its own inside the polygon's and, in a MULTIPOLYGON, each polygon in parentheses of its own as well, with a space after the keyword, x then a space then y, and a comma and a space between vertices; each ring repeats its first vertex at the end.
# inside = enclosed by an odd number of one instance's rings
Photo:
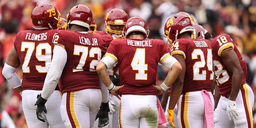
POLYGON ((53 43, 64 46, 68 55, 59 82, 62 93, 100 88, 96 66, 107 50, 100 34, 59 31, 53 43))

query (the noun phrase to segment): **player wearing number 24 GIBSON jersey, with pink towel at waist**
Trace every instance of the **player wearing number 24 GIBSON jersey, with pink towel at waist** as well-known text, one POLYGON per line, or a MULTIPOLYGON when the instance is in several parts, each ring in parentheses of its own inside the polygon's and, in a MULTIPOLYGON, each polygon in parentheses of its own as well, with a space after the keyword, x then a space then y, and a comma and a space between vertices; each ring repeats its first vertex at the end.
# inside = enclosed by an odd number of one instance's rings
MULTIPOLYGON (((182 65, 182 72, 172 86, 182 84, 183 88, 172 89, 170 97, 172 93, 182 90, 177 117, 180 128, 213 128, 214 100, 211 89, 214 87, 214 72, 211 44, 205 39, 192 39, 193 32, 192 22, 184 14, 175 14, 166 21, 166 44, 170 45, 171 55, 182 65), (205 108, 208 108, 207 111, 205 108)), ((168 122, 173 127, 175 104, 170 100, 167 110, 168 122)))

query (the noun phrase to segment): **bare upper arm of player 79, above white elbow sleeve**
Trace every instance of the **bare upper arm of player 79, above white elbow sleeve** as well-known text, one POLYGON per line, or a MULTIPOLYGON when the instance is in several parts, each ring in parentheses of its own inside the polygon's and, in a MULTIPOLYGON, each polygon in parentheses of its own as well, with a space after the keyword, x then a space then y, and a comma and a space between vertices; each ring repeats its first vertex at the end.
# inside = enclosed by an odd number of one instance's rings
POLYGON ((20 60, 18 58, 18 54, 14 46, 12 47, 5 63, 14 68, 18 68, 20 66, 20 60))

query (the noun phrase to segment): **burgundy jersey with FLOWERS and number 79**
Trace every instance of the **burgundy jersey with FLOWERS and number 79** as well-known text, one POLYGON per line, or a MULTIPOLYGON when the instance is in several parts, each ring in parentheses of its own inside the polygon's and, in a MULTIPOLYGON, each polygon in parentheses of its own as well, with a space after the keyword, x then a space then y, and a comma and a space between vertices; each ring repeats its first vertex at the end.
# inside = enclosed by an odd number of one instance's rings
POLYGON ((56 31, 25 30, 16 35, 14 47, 23 71, 22 90, 42 90, 52 62, 52 38, 56 31))

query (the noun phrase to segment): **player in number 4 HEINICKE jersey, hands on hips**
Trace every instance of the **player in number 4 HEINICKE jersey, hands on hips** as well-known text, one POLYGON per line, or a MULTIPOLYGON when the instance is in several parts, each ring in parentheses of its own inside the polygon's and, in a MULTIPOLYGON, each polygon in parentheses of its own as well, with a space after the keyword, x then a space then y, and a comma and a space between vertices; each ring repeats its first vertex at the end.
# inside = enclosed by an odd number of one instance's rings
POLYGON ((130 18, 124 25, 125 39, 112 40, 106 56, 96 67, 108 90, 121 99, 121 128, 157 128, 157 95, 166 91, 181 71, 180 64, 170 56, 164 42, 148 39, 148 33, 147 24, 142 18, 130 18), (115 86, 106 73, 107 68, 117 62, 120 64, 122 86, 115 86), (170 71, 161 86, 154 86, 158 62, 170 71))

